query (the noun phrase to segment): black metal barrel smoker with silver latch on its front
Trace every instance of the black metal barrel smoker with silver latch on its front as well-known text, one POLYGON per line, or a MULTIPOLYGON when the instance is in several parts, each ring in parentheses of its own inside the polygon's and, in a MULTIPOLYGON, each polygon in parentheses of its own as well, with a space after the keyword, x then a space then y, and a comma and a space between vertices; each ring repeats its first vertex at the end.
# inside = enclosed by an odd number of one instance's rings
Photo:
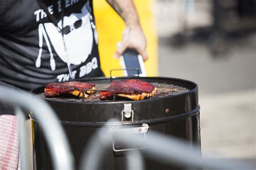
MULTIPOLYGON (((110 85, 112 80, 124 79, 128 78, 92 78, 85 81, 95 83, 97 89, 104 89, 110 85)), ((139 79, 153 83, 158 89, 157 94, 152 98, 139 101, 124 99, 100 101, 99 94, 96 92, 83 102, 82 99, 75 98, 45 98, 44 87, 32 91, 47 100, 57 113, 68 136, 76 168, 80 165, 84 148, 92 134, 103 125, 109 124, 107 120, 110 118, 119 120, 115 124, 122 126, 126 126, 126 123, 134 126, 147 124, 149 131, 154 130, 172 135, 193 144, 191 147, 200 147, 200 107, 197 84, 176 78, 144 77, 139 79), (124 107, 130 107, 133 117, 126 120, 123 116, 124 107)), ((49 149, 44 140, 40 122, 33 115, 31 119, 33 164, 36 169, 52 169, 49 149)), ((105 154, 104 160, 99 162, 100 169, 125 169, 124 155, 116 154, 113 148, 105 154)), ((147 158, 144 163, 146 169, 180 169, 147 158)))

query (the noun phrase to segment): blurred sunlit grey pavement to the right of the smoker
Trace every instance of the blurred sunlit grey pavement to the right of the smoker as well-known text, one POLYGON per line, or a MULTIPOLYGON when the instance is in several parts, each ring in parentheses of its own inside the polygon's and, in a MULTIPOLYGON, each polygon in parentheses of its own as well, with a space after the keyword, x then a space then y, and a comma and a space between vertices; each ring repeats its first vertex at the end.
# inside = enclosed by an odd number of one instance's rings
POLYGON ((203 155, 256 160, 256 35, 227 43, 228 52, 214 57, 207 42, 174 47, 159 38, 159 76, 199 85, 203 155))

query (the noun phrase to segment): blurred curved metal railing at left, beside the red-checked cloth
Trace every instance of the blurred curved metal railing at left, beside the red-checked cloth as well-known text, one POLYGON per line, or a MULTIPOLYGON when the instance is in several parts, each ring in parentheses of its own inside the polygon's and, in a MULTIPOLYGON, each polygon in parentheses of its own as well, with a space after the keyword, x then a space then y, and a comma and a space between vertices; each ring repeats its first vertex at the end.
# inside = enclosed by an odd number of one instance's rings
POLYGON ((27 157, 27 146, 25 144, 26 131, 24 128, 25 114, 21 110, 21 107, 31 110, 38 121, 40 121, 46 142, 48 142, 51 158, 53 159, 53 167, 55 169, 73 169, 73 156, 63 127, 60 125, 55 112, 46 101, 32 96, 29 93, 5 86, 0 86, 0 101, 1 100, 10 103, 16 108, 15 113, 18 115, 19 124, 21 169, 28 169, 28 162, 26 162, 25 159, 27 157))

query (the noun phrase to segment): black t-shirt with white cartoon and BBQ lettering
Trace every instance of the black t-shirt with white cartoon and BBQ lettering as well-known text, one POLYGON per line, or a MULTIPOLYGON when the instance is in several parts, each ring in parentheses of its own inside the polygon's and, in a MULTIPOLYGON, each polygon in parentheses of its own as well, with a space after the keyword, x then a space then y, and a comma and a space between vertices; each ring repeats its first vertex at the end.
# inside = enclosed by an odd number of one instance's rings
POLYGON ((0 0, 0 81, 26 90, 69 81, 66 63, 76 79, 103 76, 92 0, 42 1, 64 40, 36 0, 0 0))

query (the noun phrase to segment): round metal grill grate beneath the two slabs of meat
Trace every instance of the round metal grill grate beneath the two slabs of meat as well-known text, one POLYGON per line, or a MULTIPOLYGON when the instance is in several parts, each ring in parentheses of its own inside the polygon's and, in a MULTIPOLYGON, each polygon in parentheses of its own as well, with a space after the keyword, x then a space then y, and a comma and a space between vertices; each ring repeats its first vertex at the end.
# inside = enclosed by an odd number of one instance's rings
MULTIPOLYGON (((177 86, 177 85, 172 85, 172 84, 165 84, 165 83, 152 83, 154 86, 157 87, 157 93, 152 96, 151 98, 161 98, 161 97, 167 97, 167 96, 173 96, 173 95, 178 95, 181 93, 189 92, 190 90, 186 89, 185 87, 177 86)), ((110 86, 110 83, 101 83, 101 84, 96 84, 96 89, 106 89, 107 87, 110 86)), ((44 97, 44 93, 38 94, 40 97, 44 97)), ((61 98, 47 98, 48 100, 57 100, 57 101, 81 101, 82 99, 76 98, 73 95, 67 95, 67 96, 62 96, 61 98)), ((125 101, 125 100, 130 100, 126 98, 116 98, 118 101, 125 101)), ((90 97, 85 98, 86 101, 102 101, 99 99, 99 92, 93 93, 90 97)), ((111 101, 111 100, 104 100, 104 101, 111 101)))

